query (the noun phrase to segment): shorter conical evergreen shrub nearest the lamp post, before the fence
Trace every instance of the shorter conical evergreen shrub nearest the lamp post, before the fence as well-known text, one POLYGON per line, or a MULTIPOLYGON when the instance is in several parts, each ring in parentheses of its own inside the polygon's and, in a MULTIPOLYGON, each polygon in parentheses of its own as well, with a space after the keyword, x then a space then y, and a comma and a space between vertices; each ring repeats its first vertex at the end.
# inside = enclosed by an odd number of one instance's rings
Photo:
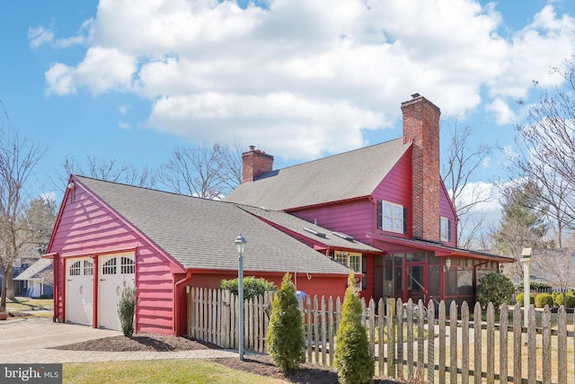
POLYGON ((271 305, 266 344, 271 360, 281 371, 296 370, 305 362, 304 321, 299 311, 296 289, 286 273, 271 305))

